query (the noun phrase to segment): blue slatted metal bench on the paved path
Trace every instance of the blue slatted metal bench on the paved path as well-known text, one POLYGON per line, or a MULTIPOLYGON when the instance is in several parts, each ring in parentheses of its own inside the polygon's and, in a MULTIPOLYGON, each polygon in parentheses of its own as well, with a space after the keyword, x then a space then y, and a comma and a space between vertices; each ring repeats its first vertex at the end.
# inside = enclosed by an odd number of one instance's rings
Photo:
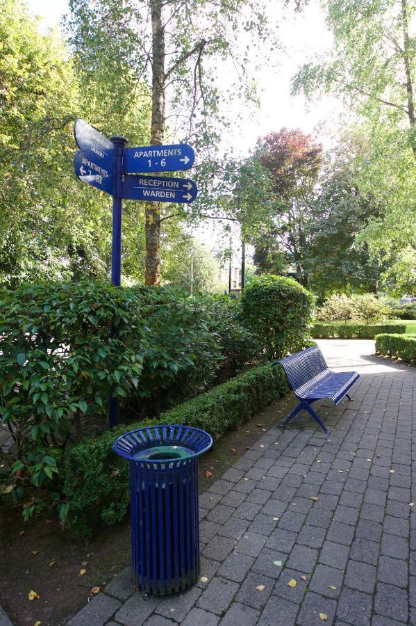
POLYGON ((357 374, 356 371, 331 371, 318 346, 306 348, 306 350, 292 354, 285 359, 274 361, 272 365, 278 363, 283 365, 290 386, 300 400, 297 407, 280 425, 286 426, 299 411, 306 410, 316 419, 325 433, 331 433, 310 405, 316 400, 324 398, 333 400, 335 406, 344 396, 351 400, 348 392, 356 384, 360 374, 357 374))

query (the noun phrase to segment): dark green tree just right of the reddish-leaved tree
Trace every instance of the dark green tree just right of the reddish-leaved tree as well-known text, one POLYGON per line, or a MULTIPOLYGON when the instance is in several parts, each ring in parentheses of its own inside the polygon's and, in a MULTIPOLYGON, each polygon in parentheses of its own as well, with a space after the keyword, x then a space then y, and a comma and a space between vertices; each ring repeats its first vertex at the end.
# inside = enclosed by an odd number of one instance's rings
POLYGON ((376 292, 381 266, 370 258, 356 235, 383 207, 371 193, 362 194, 356 181, 359 145, 346 138, 326 157, 319 191, 312 204, 308 273, 310 286, 321 296, 335 291, 376 292))

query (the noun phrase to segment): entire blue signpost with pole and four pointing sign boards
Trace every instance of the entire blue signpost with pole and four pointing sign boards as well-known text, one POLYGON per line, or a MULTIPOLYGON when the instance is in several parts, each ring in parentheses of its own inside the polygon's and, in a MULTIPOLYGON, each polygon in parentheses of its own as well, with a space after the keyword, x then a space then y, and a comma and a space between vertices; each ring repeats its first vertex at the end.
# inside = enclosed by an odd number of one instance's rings
MULTIPOLYGON (((188 170, 194 164, 195 153, 185 143, 126 147, 126 138, 115 135, 108 139, 84 120, 76 120, 74 135, 80 148, 74 157, 76 175, 88 185, 113 195, 111 282, 118 287, 122 275, 122 200, 187 204, 198 193, 192 180, 136 176, 135 172, 188 170)), ((118 424, 117 398, 110 398, 109 423, 118 424)))

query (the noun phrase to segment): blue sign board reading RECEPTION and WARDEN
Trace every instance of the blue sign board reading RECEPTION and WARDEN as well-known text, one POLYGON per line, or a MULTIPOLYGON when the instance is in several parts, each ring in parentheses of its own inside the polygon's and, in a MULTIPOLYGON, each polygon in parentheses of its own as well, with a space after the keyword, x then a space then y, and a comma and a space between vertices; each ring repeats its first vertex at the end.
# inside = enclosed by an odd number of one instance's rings
POLYGON ((150 202, 193 202, 197 185, 186 178, 158 176, 124 176, 123 198, 150 202))

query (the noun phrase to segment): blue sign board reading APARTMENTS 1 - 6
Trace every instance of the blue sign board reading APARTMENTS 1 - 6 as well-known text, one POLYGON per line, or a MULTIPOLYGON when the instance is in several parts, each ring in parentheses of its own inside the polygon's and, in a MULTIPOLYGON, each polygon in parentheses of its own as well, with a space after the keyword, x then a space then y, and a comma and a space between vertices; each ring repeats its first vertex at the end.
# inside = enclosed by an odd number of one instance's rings
POLYGON ((124 172, 178 172, 192 168, 195 153, 186 143, 128 147, 124 172))

